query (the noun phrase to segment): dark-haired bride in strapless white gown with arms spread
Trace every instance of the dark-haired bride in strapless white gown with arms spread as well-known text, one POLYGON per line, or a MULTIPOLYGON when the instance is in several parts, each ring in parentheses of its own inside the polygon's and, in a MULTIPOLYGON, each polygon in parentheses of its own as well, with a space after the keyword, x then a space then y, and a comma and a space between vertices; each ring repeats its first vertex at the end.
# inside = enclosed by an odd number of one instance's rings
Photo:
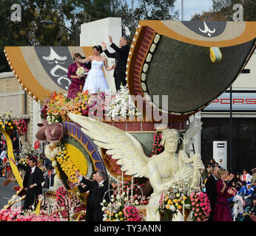
POLYGON ((89 91, 90 94, 95 94, 98 91, 104 91, 107 92, 109 89, 107 86, 107 81, 104 77, 103 72, 103 66, 105 66, 105 69, 107 71, 111 71, 115 68, 115 65, 113 65, 111 68, 107 64, 107 58, 101 56, 102 53, 102 47, 101 46, 93 46, 93 54, 90 55, 88 58, 80 59, 75 58, 73 55, 73 58, 77 60, 79 63, 88 63, 89 61, 92 62, 92 68, 90 69, 90 72, 87 75, 87 79, 84 83, 83 91, 89 91))

